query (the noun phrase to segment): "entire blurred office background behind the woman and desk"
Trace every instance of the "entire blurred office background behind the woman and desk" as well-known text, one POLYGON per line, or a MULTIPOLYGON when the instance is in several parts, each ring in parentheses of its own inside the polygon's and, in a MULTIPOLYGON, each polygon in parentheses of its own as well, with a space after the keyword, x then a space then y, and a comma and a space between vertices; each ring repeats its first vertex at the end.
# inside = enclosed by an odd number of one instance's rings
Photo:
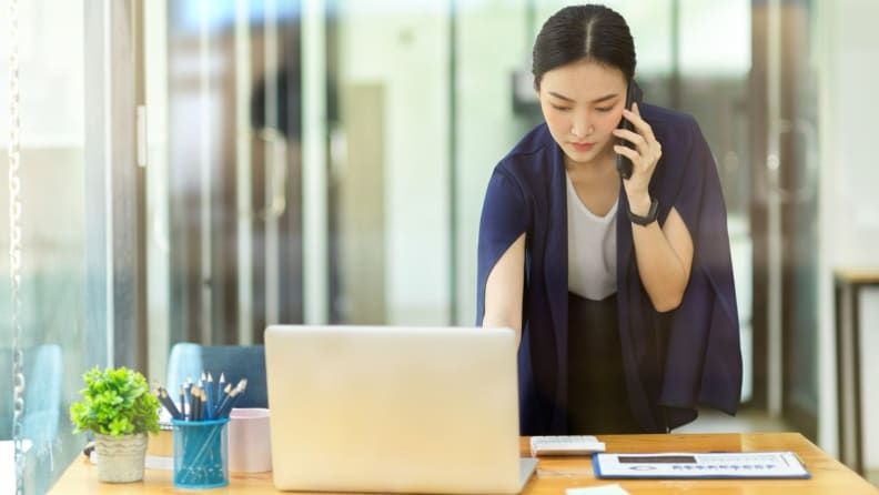
MULTIPOLYGON (((486 181, 540 121, 531 47, 567 3, 0 1, 16 28, 0 51, 19 61, 0 63, 0 149, 21 163, 4 249, 22 233, 20 265, 0 257, 21 280, 0 284, 0 355, 8 376, 23 348, 26 390, 58 397, 26 428, 28 493, 79 454, 68 408, 95 364, 162 382, 174 343, 261 343, 271 323, 472 324, 486 181), (47 346, 58 386, 28 361, 47 346)), ((879 3, 606 3, 629 22, 646 100, 699 121, 728 205, 744 413, 687 430, 788 428, 839 455, 832 271, 879 263, 879 3)), ((877 307, 868 290, 853 316, 863 355, 877 307)), ((12 398, 6 380, 0 483, 12 398)), ((862 433, 879 469, 879 430, 862 433)))

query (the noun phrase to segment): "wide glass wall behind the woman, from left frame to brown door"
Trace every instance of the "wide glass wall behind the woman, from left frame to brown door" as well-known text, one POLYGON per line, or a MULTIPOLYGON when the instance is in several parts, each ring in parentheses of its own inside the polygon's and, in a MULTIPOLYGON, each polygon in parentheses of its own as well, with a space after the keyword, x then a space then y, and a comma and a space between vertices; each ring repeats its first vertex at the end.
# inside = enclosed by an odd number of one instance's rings
MULTIPOLYGON (((148 107, 168 162, 146 198, 151 367, 172 342, 260 342, 267 322, 472 324, 485 185, 540 121, 531 47, 567 3, 158 3, 148 107), (309 173, 324 178, 316 201, 309 173), (315 214, 326 240, 309 257, 315 214), (322 299, 325 314, 306 315, 322 299)), ((747 345, 750 3, 608 4, 632 27, 646 99, 693 113, 716 154, 747 345)))

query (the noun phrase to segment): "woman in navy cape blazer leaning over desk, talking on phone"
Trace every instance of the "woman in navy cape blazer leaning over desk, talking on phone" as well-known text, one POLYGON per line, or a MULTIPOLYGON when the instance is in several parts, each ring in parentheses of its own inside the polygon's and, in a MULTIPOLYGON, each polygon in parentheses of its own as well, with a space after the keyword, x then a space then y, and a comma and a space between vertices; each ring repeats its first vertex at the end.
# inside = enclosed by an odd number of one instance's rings
POLYGON ((698 125, 625 109, 634 42, 603 6, 549 18, 533 72, 545 123, 495 168, 478 246, 477 324, 519 336, 522 434, 668 432, 697 405, 735 414, 726 208, 698 125))

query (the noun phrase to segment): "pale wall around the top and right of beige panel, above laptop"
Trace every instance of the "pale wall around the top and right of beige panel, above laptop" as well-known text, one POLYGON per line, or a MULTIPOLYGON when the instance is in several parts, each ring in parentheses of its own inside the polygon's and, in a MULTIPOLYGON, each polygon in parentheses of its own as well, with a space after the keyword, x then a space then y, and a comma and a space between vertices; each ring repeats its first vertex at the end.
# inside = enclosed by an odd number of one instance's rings
POLYGON ((449 294, 446 2, 340 2, 339 83, 384 89, 388 324, 442 324, 449 294))

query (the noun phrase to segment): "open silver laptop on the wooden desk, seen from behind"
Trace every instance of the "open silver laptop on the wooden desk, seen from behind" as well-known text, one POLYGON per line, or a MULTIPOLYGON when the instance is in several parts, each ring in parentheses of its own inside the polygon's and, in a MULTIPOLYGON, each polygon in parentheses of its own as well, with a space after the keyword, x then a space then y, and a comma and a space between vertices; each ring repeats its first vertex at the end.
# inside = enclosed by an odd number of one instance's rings
POLYGON ((508 329, 271 325, 274 485, 283 491, 516 494, 508 329))

